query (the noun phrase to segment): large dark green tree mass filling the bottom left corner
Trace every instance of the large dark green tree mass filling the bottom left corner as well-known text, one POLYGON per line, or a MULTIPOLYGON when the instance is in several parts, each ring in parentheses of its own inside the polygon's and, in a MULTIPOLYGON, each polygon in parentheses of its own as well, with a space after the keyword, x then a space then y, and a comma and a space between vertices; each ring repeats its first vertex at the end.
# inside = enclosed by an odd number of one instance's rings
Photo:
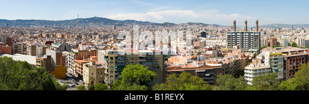
POLYGON ((62 90, 60 83, 45 68, 0 57, 0 90, 62 90))

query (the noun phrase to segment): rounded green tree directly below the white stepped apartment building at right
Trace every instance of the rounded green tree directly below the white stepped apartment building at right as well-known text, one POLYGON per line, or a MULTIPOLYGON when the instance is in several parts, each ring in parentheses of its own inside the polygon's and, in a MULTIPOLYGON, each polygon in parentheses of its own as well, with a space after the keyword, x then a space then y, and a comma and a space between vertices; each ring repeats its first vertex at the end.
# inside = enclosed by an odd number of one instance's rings
POLYGON ((277 73, 259 75, 254 77, 252 87, 254 90, 278 90, 280 82, 277 79, 277 73))

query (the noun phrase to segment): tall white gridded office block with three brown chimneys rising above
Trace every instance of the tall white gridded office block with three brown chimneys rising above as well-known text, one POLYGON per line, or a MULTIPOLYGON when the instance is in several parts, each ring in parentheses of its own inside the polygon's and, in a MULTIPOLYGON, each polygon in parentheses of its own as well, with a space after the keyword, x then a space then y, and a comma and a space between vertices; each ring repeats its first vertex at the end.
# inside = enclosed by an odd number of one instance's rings
MULTIPOLYGON (((247 26, 247 21, 245 21, 247 26)), ((238 45, 242 52, 260 53, 260 31, 258 31, 258 21, 256 21, 255 31, 236 31, 236 21, 234 21, 233 31, 227 32, 227 48, 232 49, 238 45)))

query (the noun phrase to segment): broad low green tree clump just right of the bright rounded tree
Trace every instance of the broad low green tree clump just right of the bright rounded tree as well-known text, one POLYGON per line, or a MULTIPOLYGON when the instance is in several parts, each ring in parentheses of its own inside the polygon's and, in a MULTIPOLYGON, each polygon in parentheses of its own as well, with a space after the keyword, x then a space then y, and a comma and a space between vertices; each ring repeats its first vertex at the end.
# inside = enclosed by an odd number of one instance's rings
POLYGON ((167 83, 157 83, 153 90, 213 90, 213 87, 203 79, 192 77, 184 71, 179 77, 173 73, 167 78, 167 83))

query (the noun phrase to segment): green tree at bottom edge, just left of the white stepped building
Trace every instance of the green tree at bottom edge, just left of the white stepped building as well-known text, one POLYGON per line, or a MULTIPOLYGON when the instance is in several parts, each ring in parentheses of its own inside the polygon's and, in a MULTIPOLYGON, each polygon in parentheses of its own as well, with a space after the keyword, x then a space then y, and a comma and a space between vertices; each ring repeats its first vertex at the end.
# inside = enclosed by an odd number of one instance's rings
POLYGON ((219 75, 216 80, 218 86, 215 90, 245 90, 247 84, 244 82, 244 77, 233 77, 233 75, 219 75))

